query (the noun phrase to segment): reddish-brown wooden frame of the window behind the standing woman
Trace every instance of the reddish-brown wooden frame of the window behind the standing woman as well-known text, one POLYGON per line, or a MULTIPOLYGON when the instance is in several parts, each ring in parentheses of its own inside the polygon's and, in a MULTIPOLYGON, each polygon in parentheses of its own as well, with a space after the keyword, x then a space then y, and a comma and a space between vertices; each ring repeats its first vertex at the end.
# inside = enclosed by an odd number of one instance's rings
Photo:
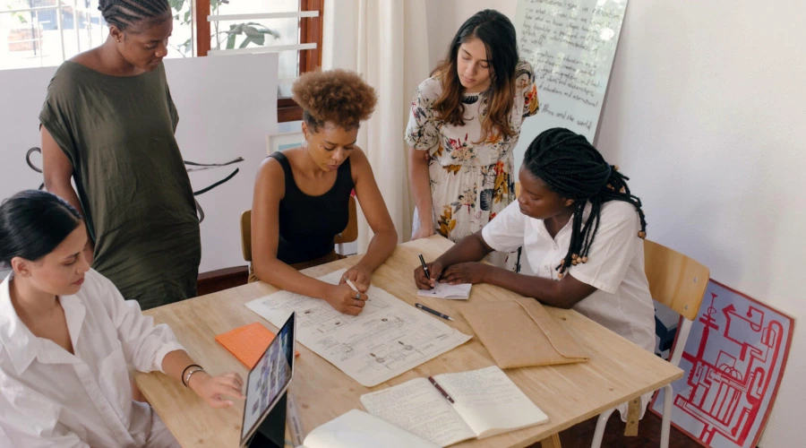
MULTIPOLYGON (((300 0, 300 11, 318 11, 318 17, 304 17, 299 20, 299 43, 315 43, 316 48, 299 50, 299 73, 313 72, 322 66, 322 13, 324 0, 300 0)), ((207 56, 210 52, 210 0, 196 0, 195 12, 195 45, 196 56, 207 56)), ((291 98, 277 99, 277 121, 286 123, 302 120, 303 110, 291 98)))

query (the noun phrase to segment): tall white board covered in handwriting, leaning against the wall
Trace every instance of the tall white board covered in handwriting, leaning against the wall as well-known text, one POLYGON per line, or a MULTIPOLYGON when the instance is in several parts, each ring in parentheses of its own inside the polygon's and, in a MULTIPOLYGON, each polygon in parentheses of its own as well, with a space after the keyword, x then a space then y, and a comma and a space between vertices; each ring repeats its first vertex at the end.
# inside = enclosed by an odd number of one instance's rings
POLYGON ((540 112, 528 118, 515 164, 537 134, 566 127, 596 136, 627 0, 519 0, 519 52, 535 70, 540 112))

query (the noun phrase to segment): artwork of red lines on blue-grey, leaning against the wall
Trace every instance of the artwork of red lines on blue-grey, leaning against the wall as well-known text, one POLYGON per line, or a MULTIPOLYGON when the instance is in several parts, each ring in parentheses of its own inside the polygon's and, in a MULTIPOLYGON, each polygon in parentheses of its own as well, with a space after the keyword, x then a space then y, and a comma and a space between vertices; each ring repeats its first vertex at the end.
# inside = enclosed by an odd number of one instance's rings
MULTIPOLYGON (((704 446, 754 447, 792 343, 793 319, 710 280, 673 383, 672 424, 704 446)), ((664 394, 651 409, 660 415, 664 394)))

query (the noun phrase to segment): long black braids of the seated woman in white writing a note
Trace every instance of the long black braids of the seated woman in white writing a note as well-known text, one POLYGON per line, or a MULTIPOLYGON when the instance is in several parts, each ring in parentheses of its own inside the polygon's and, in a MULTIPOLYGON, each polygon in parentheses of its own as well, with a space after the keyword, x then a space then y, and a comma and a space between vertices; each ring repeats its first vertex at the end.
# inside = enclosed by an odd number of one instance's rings
POLYGON ((641 210, 641 200, 630 194, 629 177, 618 167, 610 165, 587 139, 579 134, 556 127, 544 131, 529 144, 524 166, 544 181, 556 194, 574 200, 570 245, 565 258, 554 269, 558 277, 578 263, 587 263, 587 254, 599 228, 602 204, 609 201, 629 202, 638 211, 641 229, 638 237, 647 237, 647 220, 641 210), (590 215, 582 222, 587 202, 590 215))

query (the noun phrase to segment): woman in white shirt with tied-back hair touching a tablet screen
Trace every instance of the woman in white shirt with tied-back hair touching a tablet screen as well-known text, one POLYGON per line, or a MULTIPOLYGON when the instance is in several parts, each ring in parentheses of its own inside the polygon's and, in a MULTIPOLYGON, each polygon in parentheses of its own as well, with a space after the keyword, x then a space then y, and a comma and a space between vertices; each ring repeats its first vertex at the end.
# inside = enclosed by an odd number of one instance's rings
POLYGON ((207 375, 165 324, 124 300, 83 252, 81 215, 54 194, 0 205, 0 446, 178 446, 129 367, 181 380, 214 408, 244 398, 236 373, 207 375))

